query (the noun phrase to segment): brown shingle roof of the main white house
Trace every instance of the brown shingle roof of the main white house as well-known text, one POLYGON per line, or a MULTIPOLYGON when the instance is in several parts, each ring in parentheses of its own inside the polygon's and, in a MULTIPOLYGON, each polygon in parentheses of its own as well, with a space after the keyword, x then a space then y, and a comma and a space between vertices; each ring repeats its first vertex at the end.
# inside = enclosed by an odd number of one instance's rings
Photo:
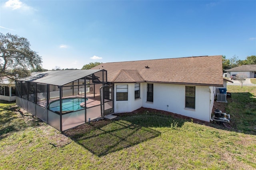
POLYGON ((92 69, 107 70, 108 81, 113 83, 223 86, 222 55, 102 63, 92 69))

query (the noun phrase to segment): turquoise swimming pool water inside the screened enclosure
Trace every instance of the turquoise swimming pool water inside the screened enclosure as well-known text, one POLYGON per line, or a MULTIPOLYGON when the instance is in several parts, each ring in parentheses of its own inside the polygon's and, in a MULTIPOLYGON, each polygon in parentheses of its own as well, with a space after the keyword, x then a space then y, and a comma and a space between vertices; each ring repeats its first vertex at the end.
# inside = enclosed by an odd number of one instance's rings
MULTIPOLYGON (((86 101, 88 98, 86 98, 86 101)), ((77 111, 84 109, 80 103, 84 102, 84 98, 66 98, 62 99, 62 112, 77 111)), ((60 111, 60 100, 52 101, 49 105, 51 111, 60 111)))

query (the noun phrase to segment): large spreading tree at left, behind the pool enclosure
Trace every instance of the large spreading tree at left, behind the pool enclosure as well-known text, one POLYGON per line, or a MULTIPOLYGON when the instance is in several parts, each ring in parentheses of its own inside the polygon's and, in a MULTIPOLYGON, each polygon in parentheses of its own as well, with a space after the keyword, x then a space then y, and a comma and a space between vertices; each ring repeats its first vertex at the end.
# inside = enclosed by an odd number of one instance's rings
POLYGON ((0 33, 0 77, 27 77, 30 69, 39 67, 42 63, 36 51, 30 49, 30 42, 23 37, 0 33))

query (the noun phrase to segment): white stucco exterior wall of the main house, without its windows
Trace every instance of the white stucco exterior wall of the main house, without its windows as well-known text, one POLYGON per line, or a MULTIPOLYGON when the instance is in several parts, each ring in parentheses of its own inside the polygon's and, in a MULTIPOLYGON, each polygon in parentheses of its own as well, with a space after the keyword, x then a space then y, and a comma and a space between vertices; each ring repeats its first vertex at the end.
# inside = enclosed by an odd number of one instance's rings
MULTIPOLYGON (((124 83, 125 84, 125 83, 124 83)), ((214 101, 214 87, 196 86, 196 109, 185 108, 185 85, 154 83, 154 102, 147 102, 147 83, 140 83, 140 99, 134 99, 134 83, 128 84, 128 101, 116 101, 115 113, 131 112, 140 107, 169 111, 180 115, 210 121, 214 101)), ((116 85, 114 88, 116 91, 116 85)))

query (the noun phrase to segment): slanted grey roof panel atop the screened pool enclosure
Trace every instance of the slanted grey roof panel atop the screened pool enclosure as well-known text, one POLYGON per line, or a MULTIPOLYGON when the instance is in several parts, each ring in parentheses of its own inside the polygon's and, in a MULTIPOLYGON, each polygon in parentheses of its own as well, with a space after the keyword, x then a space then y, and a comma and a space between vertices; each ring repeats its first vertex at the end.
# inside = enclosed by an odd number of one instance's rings
POLYGON ((50 85, 65 85, 72 81, 81 79, 98 71, 106 71, 104 69, 90 70, 53 70, 31 75, 29 77, 19 79, 20 81, 32 81, 35 83, 44 83, 50 85))

